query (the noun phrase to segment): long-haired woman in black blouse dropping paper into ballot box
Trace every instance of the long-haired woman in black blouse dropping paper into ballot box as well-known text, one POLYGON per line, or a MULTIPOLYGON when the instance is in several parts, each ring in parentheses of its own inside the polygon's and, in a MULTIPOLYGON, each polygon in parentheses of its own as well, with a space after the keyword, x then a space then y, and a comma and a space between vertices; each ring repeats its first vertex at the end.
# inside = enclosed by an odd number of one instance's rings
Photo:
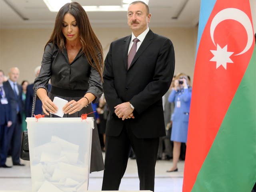
MULTIPOLYGON (((50 98, 44 88, 37 90, 43 112, 57 112, 52 102, 55 96, 68 100, 62 108, 64 117, 92 112, 91 102, 102 95, 102 68, 102 46, 86 12, 77 2, 65 4, 56 16, 54 30, 44 48, 40 74, 34 82, 35 89, 38 85, 47 87, 51 80, 50 98)), ((93 129, 90 172, 100 170, 104 170, 102 152, 97 129, 93 129)))

